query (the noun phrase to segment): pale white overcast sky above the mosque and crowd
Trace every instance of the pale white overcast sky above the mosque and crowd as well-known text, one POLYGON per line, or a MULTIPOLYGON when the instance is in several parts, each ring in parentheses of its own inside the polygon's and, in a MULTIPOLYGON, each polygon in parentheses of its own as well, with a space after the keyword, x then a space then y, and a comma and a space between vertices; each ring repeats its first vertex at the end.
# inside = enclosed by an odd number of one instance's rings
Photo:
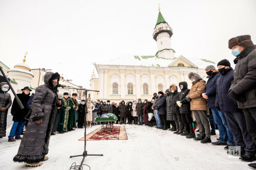
POLYGON ((256 42, 255 0, 0 0, 0 61, 12 68, 28 51, 31 68, 89 88, 93 63, 156 54, 158 3, 176 57, 232 61, 230 38, 249 34, 256 42))

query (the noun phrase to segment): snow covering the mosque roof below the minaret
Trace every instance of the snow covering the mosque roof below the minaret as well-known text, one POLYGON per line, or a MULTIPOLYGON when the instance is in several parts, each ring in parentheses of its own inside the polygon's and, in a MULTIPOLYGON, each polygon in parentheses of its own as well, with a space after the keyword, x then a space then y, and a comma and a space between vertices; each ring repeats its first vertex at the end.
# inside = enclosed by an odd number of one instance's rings
MULTIPOLYGON (((175 59, 165 59, 158 56, 124 56, 113 59, 101 60, 96 62, 96 65, 131 65, 131 66, 155 66, 155 67, 168 67, 175 59)), ((188 61, 196 65, 198 68, 205 68, 207 65, 214 65, 215 63, 198 58, 186 58, 188 61)))

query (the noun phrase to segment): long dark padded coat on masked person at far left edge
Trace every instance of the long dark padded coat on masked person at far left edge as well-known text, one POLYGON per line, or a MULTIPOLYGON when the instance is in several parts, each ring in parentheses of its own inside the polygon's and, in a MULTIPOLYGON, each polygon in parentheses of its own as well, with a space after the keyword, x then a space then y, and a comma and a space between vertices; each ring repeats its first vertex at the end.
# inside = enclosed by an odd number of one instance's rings
MULTIPOLYGON (((0 87, 4 84, 7 84, 6 82, 0 83, 0 87)), ((9 88, 10 90, 10 88, 9 88)), ((10 108, 12 105, 11 95, 8 92, 4 92, 0 89, 0 107, 7 107, 5 111, 0 111, 0 137, 6 136, 6 119, 7 119, 7 113, 8 108, 10 108)))

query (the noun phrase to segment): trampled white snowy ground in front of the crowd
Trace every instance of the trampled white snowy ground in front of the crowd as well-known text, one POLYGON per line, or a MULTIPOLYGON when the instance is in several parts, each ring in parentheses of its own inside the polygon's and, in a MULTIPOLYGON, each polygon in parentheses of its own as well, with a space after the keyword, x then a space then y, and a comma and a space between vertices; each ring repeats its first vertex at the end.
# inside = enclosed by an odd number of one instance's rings
MULTIPOLYGON (((98 127, 88 129, 87 133, 98 127)), ((91 169, 250 169, 248 163, 229 158, 223 146, 202 144, 154 127, 125 125, 125 128, 128 140, 87 141, 88 154, 104 155, 86 157, 85 163, 91 169)), ((83 129, 51 136, 49 160, 36 168, 14 163, 12 158, 20 141, 11 143, 7 137, 1 138, 0 169, 69 169, 73 162, 79 164, 82 159, 69 157, 82 154, 84 142, 78 141, 82 136, 83 129)), ((217 137, 212 136, 212 141, 217 137)))

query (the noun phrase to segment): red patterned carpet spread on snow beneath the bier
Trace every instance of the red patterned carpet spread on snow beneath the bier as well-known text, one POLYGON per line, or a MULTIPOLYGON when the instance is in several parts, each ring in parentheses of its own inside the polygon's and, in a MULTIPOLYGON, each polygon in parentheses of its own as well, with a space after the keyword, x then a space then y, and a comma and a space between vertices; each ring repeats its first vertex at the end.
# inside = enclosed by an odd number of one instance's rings
MULTIPOLYGON (((114 126, 111 133, 110 130, 102 131, 101 127, 95 129, 91 133, 86 135, 86 140, 127 140, 127 134, 125 130, 125 126, 114 126)), ((82 137, 79 140, 84 140, 82 137)))

